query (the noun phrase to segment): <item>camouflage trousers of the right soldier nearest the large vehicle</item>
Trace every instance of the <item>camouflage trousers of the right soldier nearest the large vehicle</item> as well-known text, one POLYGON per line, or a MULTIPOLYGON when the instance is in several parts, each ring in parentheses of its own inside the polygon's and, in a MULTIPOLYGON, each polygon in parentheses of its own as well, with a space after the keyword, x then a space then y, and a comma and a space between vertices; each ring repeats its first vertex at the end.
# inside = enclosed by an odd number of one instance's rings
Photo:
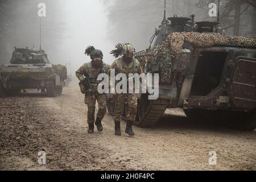
POLYGON ((125 98, 127 98, 127 119, 130 121, 135 121, 137 114, 137 97, 134 94, 116 94, 114 96, 115 109, 114 109, 114 121, 121 121, 121 116, 123 113, 123 107, 125 103, 125 98))

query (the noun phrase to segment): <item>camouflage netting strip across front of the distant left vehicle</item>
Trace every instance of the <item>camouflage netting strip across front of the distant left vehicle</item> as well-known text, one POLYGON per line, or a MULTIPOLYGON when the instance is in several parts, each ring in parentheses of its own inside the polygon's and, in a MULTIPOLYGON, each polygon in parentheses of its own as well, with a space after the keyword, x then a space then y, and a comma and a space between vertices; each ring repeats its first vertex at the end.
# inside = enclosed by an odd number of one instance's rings
POLYGON ((34 79, 47 80, 53 78, 55 73, 60 75, 61 80, 67 78, 67 68, 63 65, 52 65, 52 68, 22 68, 22 67, 1 67, 0 80, 9 79, 34 79))

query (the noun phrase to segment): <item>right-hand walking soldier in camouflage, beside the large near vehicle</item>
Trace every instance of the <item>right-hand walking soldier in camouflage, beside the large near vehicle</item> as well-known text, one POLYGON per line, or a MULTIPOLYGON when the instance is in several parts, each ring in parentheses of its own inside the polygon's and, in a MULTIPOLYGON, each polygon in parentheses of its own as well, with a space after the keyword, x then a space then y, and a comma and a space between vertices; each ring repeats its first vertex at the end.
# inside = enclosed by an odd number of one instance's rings
MULTIPOLYGON (((114 61, 110 69, 115 69, 115 74, 124 73, 127 78, 129 73, 138 73, 139 75, 143 72, 139 61, 133 57, 134 48, 131 44, 125 44, 122 47, 123 57, 114 61)), ((113 92, 113 91, 112 91, 113 92)), ((114 122, 115 122, 115 135, 121 135, 120 121, 123 112, 123 103, 127 98, 128 113, 127 113, 127 125, 125 133, 133 136, 134 132, 132 129, 133 122, 137 114, 137 96, 136 94, 115 94, 115 110, 114 110, 114 122)))

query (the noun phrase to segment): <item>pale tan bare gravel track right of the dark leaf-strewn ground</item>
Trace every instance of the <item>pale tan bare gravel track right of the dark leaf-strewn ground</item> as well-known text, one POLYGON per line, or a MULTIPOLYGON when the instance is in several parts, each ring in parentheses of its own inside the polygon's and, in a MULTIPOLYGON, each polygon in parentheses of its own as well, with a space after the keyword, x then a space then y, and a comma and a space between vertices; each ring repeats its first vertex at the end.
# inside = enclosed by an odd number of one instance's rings
POLYGON ((121 124, 122 137, 115 136, 114 122, 109 114, 104 118, 104 132, 89 135, 86 134, 84 97, 76 87, 69 88, 66 94, 52 100, 54 104, 51 105, 61 106, 60 113, 82 129, 89 143, 109 152, 110 157, 106 160, 109 164, 153 170, 255 169, 255 131, 242 132, 202 123, 196 127, 189 123, 184 113, 174 110, 167 111, 160 124, 152 129, 134 127, 134 138, 124 134, 125 122, 121 124), (168 120, 177 117, 171 114, 180 115, 180 125, 176 122, 177 126, 172 126, 175 122, 168 120), (208 154, 212 150, 218 155, 217 166, 208 164, 208 154))

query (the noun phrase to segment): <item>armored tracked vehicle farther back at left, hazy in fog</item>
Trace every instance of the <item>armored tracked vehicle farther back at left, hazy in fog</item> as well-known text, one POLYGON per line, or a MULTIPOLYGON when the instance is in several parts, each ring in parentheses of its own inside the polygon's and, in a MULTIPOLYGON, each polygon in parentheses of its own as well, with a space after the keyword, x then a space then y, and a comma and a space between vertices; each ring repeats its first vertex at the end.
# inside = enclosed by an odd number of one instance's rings
POLYGON ((67 68, 51 64, 43 50, 15 48, 10 64, 0 67, 0 97, 25 89, 55 97, 62 93, 66 78, 67 68))

